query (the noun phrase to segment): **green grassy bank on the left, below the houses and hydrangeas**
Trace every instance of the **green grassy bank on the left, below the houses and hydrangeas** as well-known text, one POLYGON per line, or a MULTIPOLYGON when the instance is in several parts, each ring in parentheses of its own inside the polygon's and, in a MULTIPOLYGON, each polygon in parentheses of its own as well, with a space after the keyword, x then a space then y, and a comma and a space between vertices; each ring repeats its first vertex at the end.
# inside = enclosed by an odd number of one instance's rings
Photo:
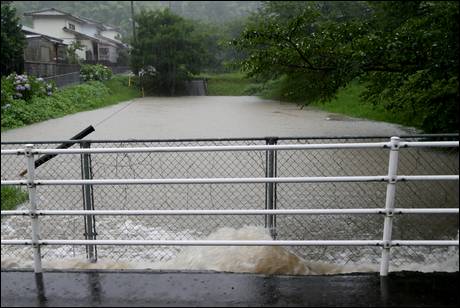
POLYGON ((114 76, 103 82, 89 81, 65 87, 48 97, 34 97, 30 102, 14 100, 2 110, 1 130, 97 109, 139 96, 138 90, 128 87, 127 76, 114 76))

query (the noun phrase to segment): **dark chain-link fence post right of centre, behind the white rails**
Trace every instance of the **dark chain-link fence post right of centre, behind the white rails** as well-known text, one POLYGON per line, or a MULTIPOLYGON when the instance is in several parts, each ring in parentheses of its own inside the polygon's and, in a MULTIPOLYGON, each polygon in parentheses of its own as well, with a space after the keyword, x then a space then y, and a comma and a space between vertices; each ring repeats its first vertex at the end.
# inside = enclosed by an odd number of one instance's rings
MULTIPOLYGON (((275 137, 266 138, 265 144, 275 145, 278 139, 275 137)), ((276 150, 267 150, 265 152, 265 176, 267 178, 276 177, 277 155, 276 150)), ((276 209, 276 183, 265 184, 265 209, 276 209)), ((270 230, 270 235, 276 239, 276 215, 265 215, 265 228, 270 230)))

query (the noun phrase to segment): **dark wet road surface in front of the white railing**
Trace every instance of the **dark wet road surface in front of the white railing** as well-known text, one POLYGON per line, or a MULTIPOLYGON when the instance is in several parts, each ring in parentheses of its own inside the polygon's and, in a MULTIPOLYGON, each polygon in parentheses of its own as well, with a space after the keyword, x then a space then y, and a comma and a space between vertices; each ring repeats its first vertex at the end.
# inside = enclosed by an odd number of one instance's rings
POLYGON ((2 272, 6 306, 453 307, 458 272, 264 276, 218 272, 2 272))

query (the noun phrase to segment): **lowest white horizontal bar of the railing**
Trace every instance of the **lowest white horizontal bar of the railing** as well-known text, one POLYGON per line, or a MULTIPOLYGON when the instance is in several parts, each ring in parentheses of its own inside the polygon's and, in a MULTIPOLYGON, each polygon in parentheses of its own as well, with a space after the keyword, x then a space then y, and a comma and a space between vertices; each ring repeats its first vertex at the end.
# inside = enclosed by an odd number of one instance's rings
MULTIPOLYGON (((33 245, 31 240, 2 240, 2 245, 33 245)), ((38 245, 155 245, 155 246, 384 246, 381 240, 39 240, 38 245)), ((391 241, 390 246, 458 246, 459 242, 391 241)))

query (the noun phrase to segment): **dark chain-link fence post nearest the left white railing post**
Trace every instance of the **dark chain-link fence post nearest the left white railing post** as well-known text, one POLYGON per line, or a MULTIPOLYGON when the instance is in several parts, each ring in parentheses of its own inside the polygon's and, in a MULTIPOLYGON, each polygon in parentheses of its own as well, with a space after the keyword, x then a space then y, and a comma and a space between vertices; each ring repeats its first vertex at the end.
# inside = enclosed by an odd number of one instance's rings
MULTIPOLYGON (((89 142, 80 143, 81 148, 90 148, 89 142)), ((81 154, 81 175, 83 180, 91 180, 93 178, 92 166, 91 166, 91 154, 81 154)), ((93 186, 82 185, 83 190, 83 209, 94 210, 94 197, 93 197, 93 186)), ((85 222, 85 239, 95 240, 96 239, 96 219, 94 215, 86 215, 84 218, 85 222)), ((97 261, 97 249, 96 245, 86 245, 86 257, 90 262, 94 263, 97 261)))

